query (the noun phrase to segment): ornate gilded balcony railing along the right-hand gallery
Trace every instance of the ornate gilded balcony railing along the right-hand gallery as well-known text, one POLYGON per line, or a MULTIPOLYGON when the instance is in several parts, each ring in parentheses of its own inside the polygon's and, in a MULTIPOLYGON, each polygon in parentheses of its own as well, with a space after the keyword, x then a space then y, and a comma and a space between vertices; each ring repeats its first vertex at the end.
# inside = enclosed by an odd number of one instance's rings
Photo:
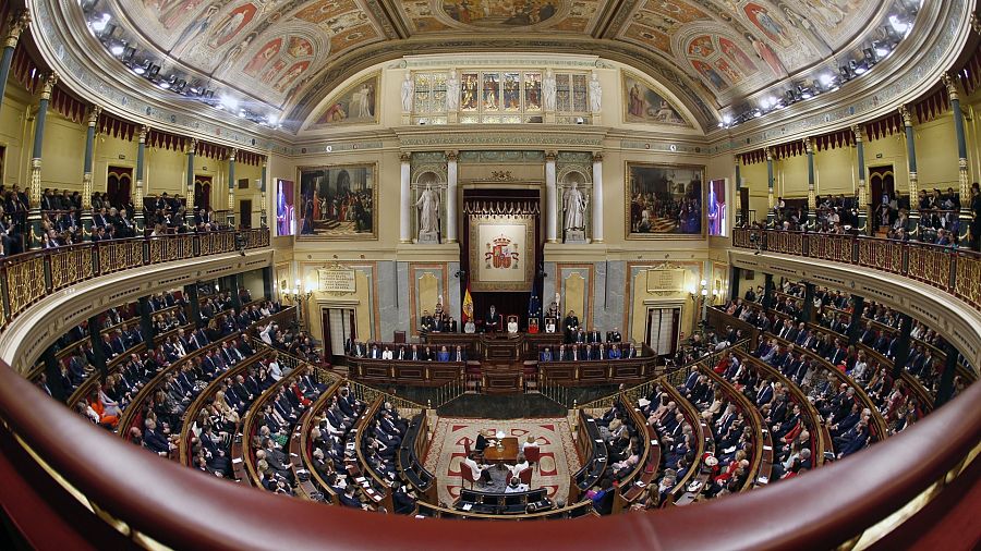
POLYGON ((930 243, 737 228, 732 246, 849 264, 905 276, 981 310, 981 255, 930 243))

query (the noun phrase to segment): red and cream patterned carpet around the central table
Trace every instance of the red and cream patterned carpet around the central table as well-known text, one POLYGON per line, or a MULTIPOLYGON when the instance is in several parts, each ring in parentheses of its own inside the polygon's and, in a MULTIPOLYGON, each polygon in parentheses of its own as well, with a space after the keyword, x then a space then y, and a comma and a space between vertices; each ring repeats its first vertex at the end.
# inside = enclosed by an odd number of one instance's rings
MULTIPOLYGON (((425 466, 436 474, 441 503, 452 505, 460 495, 463 443, 470 441, 472 446, 477 432, 487 429, 504 430, 509 437, 517 437, 519 442, 523 442, 529 433, 535 437, 542 449, 542 461, 538 469, 532 473, 531 487, 547 488, 549 498, 566 499, 569 493, 569 474, 576 473, 580 467, 566 418, 489 420, 440 417, 433 430, 433 443, 426 455, 425 466)), ((505 483, 504 472, 495 470, 492 470, 495 483, 488 488, 491 491, 505 483)), ((467 487, 470 488, 470 482, 467 482, 467 487)))

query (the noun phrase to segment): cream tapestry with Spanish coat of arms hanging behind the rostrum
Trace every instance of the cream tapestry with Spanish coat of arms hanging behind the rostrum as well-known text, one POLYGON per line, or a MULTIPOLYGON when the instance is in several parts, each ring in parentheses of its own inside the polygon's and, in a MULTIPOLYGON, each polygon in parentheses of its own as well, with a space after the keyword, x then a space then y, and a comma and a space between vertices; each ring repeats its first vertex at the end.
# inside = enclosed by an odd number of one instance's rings
POLYGON ((530 290, 534 274, 534 247, 535 221, 530 216, 471 218, 471 290, 530 290))

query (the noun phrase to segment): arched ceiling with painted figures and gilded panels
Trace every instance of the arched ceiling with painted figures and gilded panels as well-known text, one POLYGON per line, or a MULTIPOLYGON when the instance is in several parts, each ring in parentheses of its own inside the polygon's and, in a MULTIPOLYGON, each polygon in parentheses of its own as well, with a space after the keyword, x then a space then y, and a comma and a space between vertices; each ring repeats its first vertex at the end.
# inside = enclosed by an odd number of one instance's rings
MULTIPOLYGON (((915 0, 903 0, 913 1, 915 0)), ((81 0, 107 46, 189 88, 231 89, 302 121, 341 81, 404 54, 593 53, 646 72, 692 112, 718 110, 859 46, 877 0, 81 0)), ((916 3, 916 2, 915 2, 916 3)), ((99 33, 96 33, 99 36, 99 33)), ((846 62, 847 63, 847 62, 846 62)))

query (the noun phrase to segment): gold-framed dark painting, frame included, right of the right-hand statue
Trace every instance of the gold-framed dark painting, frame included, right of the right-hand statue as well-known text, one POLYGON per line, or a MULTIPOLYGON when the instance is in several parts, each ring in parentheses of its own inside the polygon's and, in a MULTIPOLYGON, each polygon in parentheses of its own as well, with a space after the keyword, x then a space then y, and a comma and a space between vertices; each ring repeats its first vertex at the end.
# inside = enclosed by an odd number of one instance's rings
POLYGON ((705 166, 663 162, 625 161, 623 231, 627 240, 703 240, 706 230, 705 166), (694 187, 698 189, 694 189, 694 187), (642 188, 641 188, 642 186, 642 188), (680 186, 680 187, 679 187, 680 186), (642 200, 635 200, 642 194, 642 200), (658 216, 661 205, 655 197, 682 203, 671 217, 658 216), (698 198, 698 215, 690 216, 698 198), (646 208, 645 208, 646 207, 646 208), (646 215, 644 215, 646 211, 646 215), (697 230, 694 223, 698 222, 697 230), (646 231, 643 230, 646 228, 646 231))

